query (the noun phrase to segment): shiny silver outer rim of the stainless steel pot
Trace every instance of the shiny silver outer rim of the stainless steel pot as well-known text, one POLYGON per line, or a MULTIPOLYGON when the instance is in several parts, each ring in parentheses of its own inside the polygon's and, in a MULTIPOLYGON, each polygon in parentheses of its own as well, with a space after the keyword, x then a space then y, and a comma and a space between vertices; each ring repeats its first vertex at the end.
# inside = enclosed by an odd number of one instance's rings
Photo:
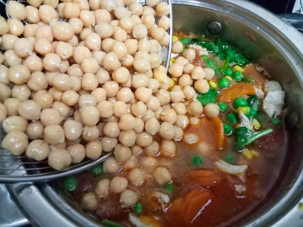
MULTIPOLYGON (((211 8, 217 5, 223 9, 236 9, 234 12, 226 10, 221 13, 230 14, 235 18, 242 18, 248 25, 255 27, 261 33, 267 34, 270 41, 285 49, 291 49, 291 54, 286 58, 291 62, 293 70, 298 78, 303 81, 303 36, 291 25, 285 23, 278 16, 255 5, 254 3, 243 0, 221 0, 221 1, 198 1, 198 0, 172 0, 173 5, 190 5, 200 8, 211 8), (249 10, 248 10, 249 9, 249 10), (244 16, 242 16, 244 15, 244 16), (256 24, 259 24, 256 26, 256 24), (263 28, 267 28, 265 31, 263 28), (289 35, 291 33, 291 35, 289 35), (275 36, 272 36, 272 35, 275 36)), ((283 50, 284 51, 284 50, 283 50)), ((280 201, 268 209, 268 211, 255 220, 252 220, 246 227, 253 226, 293 226, 294 217, 301 215, 299 209, 295 209, 296 204, 303 196, 303 169, 298 172, 294 184, 285 193, 280 201), (283 208, 283 209, 281 209, 283 208), (289 212, 291 210, 291 212, 289 212), (284 216, 290 216, 282 220, 284 216), (288 220, 288 222, 287 222, 288 220), (292 221, 292 222, 291 222, 292 221)), ((100 226, 97 220, 84 212, 75 209, 52 188, 49 183, 36 184, 10 184, 7 188, 13 199, 21 207, 25 216, 36 226, 100 226)), ((286 217, 285 216, 285 217, 286 217)), ((101 225, 102 226, 102 225, 101 225)))

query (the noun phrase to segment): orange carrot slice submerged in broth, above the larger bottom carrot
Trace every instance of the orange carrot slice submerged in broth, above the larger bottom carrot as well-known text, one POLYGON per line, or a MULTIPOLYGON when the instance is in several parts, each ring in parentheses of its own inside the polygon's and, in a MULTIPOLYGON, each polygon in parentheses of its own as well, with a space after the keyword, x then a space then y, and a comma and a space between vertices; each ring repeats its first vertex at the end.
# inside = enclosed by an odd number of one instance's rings
POLYGON ((220 182, 221 177, 213 169, 197 169, 190 173, 189 179, 203 187, 211 187, 220 182))

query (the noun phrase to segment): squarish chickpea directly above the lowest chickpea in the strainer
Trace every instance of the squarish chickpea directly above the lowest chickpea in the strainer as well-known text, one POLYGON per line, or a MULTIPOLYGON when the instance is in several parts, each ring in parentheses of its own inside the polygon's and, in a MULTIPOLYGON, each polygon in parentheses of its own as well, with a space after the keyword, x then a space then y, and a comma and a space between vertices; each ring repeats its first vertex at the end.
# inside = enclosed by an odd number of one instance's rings
POLYGON ((48 125, 44 128, 44 140, 49 144, 64 143, 64 130, 60 125, 48 125))

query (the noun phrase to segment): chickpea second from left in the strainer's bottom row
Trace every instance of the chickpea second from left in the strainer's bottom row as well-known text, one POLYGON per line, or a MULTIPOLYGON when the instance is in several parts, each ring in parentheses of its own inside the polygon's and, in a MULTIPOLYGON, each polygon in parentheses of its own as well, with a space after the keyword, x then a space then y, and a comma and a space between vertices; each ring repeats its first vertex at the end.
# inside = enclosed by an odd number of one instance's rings
POLYGON ((26 148, 26 155, 36 161, 42 161, 47 158, 50 152, 48 143, 44 140, 33 140, 26 148))

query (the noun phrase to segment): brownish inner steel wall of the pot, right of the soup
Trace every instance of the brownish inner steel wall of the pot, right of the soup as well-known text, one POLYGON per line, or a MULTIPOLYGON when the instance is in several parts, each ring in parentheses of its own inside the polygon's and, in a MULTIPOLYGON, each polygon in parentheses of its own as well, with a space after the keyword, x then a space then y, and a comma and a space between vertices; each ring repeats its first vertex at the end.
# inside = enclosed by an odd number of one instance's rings
MULTIPOLYGON (((271 196, 238 223, 241 226, 248 222, 251 222, 251 226, 266 226, 269 222, 281 218, 281 216, 277 217, 277 213, 268 211, 285 196, 302 169, 302 68, 295 68, 302 65, 302 56, 282 33, 245 9, 241 10, 223 1, 186 1, 186 4, 190 5, 184 5, 185 1, 175 3, 173 31, 205 34, 226 41, 242 51, 251 61, 260 63, 273 80, 280 82, 286 92, 288 109, 286 117, 291 129, 288 155, 280 179, 270 193, 271 196), (222 32, 219 35, 211 35, 208 32, 207 25, 211 21, 221 23, 222 32), (296 119, 298 123, 295 124, 296 119), (265 213, 266 215, 260 219, 265 213)), ((296 31, 290 29, 289 35, 291 32, 296 31)), ((290 205, 301 196, 302 191, 291 197, 293 201, 289 199, 285 204, 290 205)), ((281 215, 287 212, 285 204, 280 210, 281 215)))

